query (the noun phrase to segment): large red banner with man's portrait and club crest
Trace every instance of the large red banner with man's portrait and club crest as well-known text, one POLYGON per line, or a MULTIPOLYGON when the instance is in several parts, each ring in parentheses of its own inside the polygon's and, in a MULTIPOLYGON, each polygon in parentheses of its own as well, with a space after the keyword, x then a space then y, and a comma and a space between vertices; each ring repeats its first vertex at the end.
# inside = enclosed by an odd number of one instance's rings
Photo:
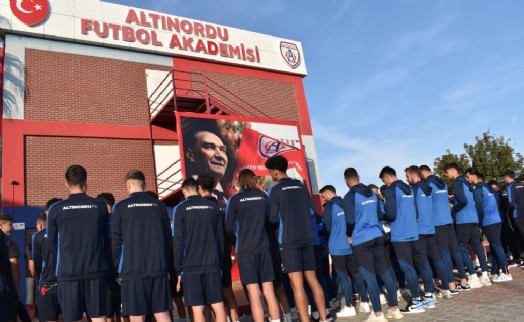
POLYGON ((297 123, 178 113, 177 124, 184 178, 213 175, 213 193, 222 205, 236 193, 236 177, 245 168, 267 191, 273 182, 264 163, 274 155, 288 159, 288 175, 310 187, 297 123))

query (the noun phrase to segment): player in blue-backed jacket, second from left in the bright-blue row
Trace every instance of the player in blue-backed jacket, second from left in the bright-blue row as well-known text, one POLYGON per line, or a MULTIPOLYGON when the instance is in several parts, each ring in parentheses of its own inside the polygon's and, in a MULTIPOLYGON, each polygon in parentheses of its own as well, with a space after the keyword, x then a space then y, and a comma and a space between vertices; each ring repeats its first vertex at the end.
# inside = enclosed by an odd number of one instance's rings
POLYGON ((360 183, 357 170, 347 168, 344 180, 349 188, 344 196, 344 213, 347 224, 348 241, 352 244, 360 272, 367 283, 373 312, 366 321, 387 321, 402 319, 404 315, 398 308, 397 281, 393 267, 386 258, 384 239, 379 219, 383 214, 378 205, 377 196, 370 188, 360 183), (380 287, 377 282, 380 276, 389 297, 387 314, 382 314, 380 304, 380 287))

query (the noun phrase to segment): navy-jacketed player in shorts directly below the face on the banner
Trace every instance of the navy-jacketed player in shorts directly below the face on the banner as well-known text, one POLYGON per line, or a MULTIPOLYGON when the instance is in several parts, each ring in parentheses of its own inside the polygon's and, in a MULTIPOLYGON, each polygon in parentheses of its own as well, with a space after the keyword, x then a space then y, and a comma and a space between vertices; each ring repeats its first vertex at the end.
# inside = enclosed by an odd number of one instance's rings
POLYGON ((221 261, 224 227, 218 205, 198 194, 198 183, 182 183, 186 200, 173 210, 173 256, 178 275, 177 291, 184 285, 184 299, 195 322, 204 322, 204 308, 211 305, 215 321, 226 322, 222 295, 221 261))

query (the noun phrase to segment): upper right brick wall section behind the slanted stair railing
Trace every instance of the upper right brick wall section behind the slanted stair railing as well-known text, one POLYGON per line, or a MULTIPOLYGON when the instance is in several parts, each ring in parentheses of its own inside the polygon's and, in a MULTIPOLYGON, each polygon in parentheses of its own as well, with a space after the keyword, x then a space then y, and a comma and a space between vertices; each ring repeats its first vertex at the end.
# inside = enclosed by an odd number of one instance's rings
MULTIPOLYGON (((220 86, 239 96, 242 100, 255 106, 258 110, 263 111, 273 119, 300 121, 295 99, 295 88, 291 83, 202 70, 197 70, 197 72, 207 74, 209 78, 217 82, 220 86)), ((209 84, 209 87, 216 88, 212 83, 209 84)), ((227 108, 238 115, 267 118, 249 107, 244 108, 243 106, 231 103, 231 100, 238 102, 238 99, 225 91, 211 91, 211 95, 216 95, 227 108)))

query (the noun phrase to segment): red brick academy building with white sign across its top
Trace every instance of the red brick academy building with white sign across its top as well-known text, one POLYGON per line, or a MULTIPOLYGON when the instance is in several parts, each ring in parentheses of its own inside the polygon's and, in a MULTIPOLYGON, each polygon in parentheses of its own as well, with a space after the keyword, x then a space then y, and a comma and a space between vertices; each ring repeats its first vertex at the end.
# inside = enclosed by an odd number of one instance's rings
POLYGON ((297 122, 318 192, 299 42, 101 1, 31 3, 0 0, 4 208, 65 197, 74 163, 90 195, 123 198, 141 169, 168 197, 182 179, 175 110, 297 122))

